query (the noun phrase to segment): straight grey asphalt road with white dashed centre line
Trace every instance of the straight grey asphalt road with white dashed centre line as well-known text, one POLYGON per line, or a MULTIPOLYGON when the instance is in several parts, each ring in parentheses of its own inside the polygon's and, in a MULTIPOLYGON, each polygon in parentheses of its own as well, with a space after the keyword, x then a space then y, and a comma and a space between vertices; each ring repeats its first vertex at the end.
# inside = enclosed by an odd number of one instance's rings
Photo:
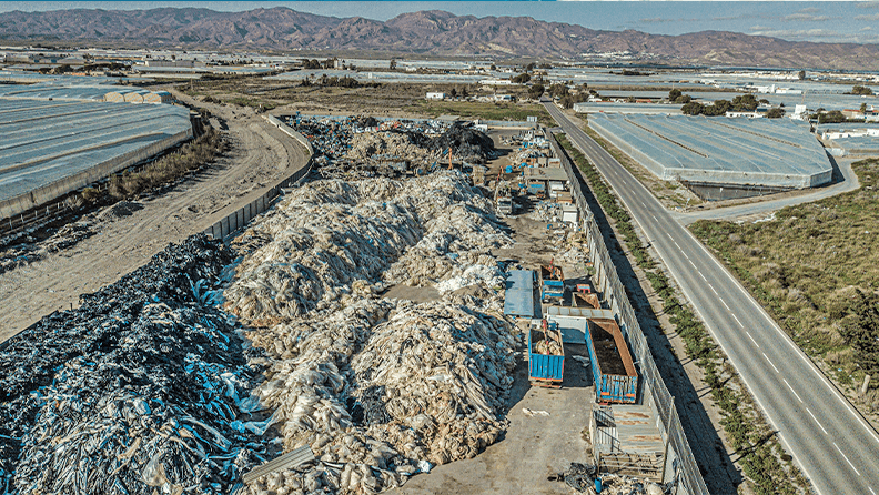
POLYGON ((818 493, 879 495, 876 431, 640 182, 554 104, 545 105, 638 222, 818 493))

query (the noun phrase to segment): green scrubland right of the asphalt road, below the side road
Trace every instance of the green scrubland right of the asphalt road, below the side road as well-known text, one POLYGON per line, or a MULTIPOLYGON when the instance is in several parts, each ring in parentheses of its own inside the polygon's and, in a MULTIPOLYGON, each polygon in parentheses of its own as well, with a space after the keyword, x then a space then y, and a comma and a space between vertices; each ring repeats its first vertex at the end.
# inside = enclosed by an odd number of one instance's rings
MULTIPOLYGON (((807 354, 857 388, 879 377, 879 160, 852 165, 861 188, 752 224, 700 221, 711 246, 807 354)), ((879 412, 879 380, 851 397, 879 412)))

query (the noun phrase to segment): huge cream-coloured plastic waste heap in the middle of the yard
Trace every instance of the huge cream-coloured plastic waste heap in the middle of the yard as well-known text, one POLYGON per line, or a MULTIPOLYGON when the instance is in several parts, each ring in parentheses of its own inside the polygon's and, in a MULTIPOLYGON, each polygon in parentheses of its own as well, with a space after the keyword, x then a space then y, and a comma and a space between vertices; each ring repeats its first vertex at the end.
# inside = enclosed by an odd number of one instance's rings
POLYGON ((511 243, 457 172, 315 181, 249 229, 226 309, 260 326, 247 333, 269 357, 255 394, 284 449, 309 445, 319 461, 245 493, 376 493, 494 443, 515 342, 488 252, 511 243), (380 295, 453 280, 440 301, 380 295), (466 283, 485 294, 455 289, 466 283))

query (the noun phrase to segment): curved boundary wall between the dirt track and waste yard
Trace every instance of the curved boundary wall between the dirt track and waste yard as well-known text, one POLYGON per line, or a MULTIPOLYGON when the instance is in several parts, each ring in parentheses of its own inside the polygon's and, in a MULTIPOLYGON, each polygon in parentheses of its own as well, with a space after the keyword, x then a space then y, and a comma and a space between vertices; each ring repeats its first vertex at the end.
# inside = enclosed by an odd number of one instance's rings
POLYGON ((212 239, 220 239, 223 242, 231 241, 230 238, 232 236, 232 234, 234 234, 235 232, 241 230, 241 228, 250 223, 250 221, 253 220, 256 215, 272 208, 274 201, 283 192, 282 191, 283 189, 293 188, 297 185, 299 182, 302 179, 304 179, 312 170, 312 165, 314 164, 314 160, 313 160, 314 149, 312 148, 309 140, 305 139, 304 135, 294 131, 289 125, 282 123, 280 120, 275 119, 272 115, 265 114, 263 115, 263 118, 265 118, 265 120, 269 123, 280 129, 281 132, 290 135, 291 138, 299 141, 300 144, 304 145, 305 149, 309 150, 309 161, 307 163, 305 163, 305 166, 293 172, 292 175, 279 182, 269 191, 265 191, 265 193, 260 198, 256 198, 255 200, 251 201, 244 206, 241 206, 240 209, 228 214, 226 216, 224 216, 213 225, 205 229, 204 233, 210 235, 212 239))

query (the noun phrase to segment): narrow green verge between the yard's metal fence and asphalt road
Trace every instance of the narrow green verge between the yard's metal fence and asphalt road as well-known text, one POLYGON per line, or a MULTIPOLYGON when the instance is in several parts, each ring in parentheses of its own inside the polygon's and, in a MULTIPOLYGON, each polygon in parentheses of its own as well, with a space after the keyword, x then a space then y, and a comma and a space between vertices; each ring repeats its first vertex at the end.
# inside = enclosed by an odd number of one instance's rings
MULTIPOLYGON (((804 493, 807 482, 799 471, 782 462, 785 455, 772 428, 766 423, 750 396, 741 392, 744 385, 726 356, 715 344, 705 325, 689 306, 680 302, 668 277, 658 270, 632 224, 628 213, 616 201, 598 171, 575 149, 565 137, 557 137, 574 163, 586 176, 589 189, 607 216, 614 219, 615 229, 638 266, 645 271, 654 292, 663 301, 663 312, 669 316, 685 343, 687 355, 705 374, 711 397, 720 408, 720 423, 732 447, 740 455, 738 463, 760 495, 794 495, 804 493), (735 384, 730 386, 730 384, 735 384)), ((879 321, 879 320, 877 320, 879 321)))

